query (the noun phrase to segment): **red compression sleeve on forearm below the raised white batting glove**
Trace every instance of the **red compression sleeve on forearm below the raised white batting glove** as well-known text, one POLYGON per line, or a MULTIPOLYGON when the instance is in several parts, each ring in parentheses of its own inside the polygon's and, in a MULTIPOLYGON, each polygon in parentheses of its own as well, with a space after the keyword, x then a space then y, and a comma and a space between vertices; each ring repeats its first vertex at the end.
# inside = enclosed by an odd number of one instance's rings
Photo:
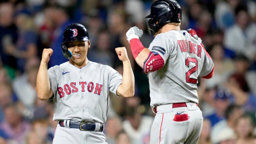
POLYGON ((134 59, 138 56, 138 54, 145 48, 139 39, 133 38, 130 40, 131 51, 134 59))

